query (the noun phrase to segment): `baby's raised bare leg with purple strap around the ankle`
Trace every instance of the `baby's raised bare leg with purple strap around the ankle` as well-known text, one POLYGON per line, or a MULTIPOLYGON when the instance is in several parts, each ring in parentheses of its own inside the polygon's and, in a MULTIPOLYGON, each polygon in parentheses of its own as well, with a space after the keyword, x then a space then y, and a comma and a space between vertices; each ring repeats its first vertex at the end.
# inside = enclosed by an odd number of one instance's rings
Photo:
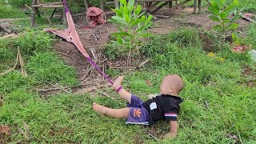
MULTIPOLYGON (((114 84, 113 84, 113 87, 114 87, 114 90, 118 90, 118 88, 121 86, 122 84, 122 80, 123 80, 123 76, 119 76, 115 81, 114 81, 114 84)), ((119 90, 118 91, 118 94, 121 96, 122 99, 125 99, 126 101, 128 101, 130 103, 130 98, 131 98, 131 94, 122 89, 122 90, 119 90)))

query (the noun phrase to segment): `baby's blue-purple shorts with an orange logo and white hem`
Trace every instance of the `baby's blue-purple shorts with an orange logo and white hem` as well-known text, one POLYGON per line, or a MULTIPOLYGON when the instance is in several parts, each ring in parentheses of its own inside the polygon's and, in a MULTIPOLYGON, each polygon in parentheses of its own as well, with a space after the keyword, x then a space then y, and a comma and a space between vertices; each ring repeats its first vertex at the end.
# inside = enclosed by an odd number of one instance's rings
POLYGON ((130 112, 126 120, 126 124, 141 124, 149 125, 149 112, 142 105, 143 101, 136 95, 131 94, 130 103, 127 107, 130 107, 130 112))

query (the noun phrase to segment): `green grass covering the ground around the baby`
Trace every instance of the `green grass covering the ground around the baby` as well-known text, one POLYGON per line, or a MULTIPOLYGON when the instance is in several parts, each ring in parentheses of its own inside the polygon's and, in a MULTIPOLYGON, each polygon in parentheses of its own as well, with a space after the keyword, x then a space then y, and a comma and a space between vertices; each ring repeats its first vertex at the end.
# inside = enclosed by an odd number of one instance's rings
MULTIPOLYGON (((18 1, 14 7, 22 6, 22 2, 29 1, 18 1)), ((246 2, 256 6, 254 0, 246 2)), ((0 13, 0 18, 24 16, 22 10, 14 11, 17 15, 0 13)), ((238 137, 237 142, 256 143, 256 64, 248 54, 234 54, 230 46, 216 44, 213 50, 218 57, 211 58, 203 50, 201 32, 195 28, 150 38, 142 49, 150 62, 133 73, 123 72, 123 86, 146 100, 147 94, 159 92, 166 74, 180 74, 185 81, 178 138, 156 141, 146 131, 162 136, 169 130, 168 123, 126 125, 125 119, 108 118, 92 110, 92 102, 112 108, 126 106, 110 88, 105 90, 116 101, 101 94, 94 98, 71 92, 47 97, 38 94, 37 89, 48 83, 77 86, 79 82, 74 67, 67 66, 54 52, 52 45, 58 40, 41 30, 45 26, 28 29, 28 25, 24 22, 17 28, 23 33, 20 38, 0 40, 0 73, 14 66, 18 47, 28 73, 23 77, 20 70, 14 70, 0 76, 0 125, 11 128, 10 134, 0 134, 0 143, 234 143, 230 134, 238 137)), ((244 33, 246 44, 255 50, 256 26, 251 25, 244 33)), ((106 71, 113 78, 120 74, 106 71)))

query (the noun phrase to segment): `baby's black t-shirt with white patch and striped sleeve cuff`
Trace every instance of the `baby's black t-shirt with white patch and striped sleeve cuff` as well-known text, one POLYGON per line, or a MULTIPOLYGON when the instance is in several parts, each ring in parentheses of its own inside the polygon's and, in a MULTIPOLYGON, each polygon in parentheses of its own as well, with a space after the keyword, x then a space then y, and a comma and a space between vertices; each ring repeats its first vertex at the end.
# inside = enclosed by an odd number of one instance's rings
POLYGON ((143 106, 150 114, 150 124, 155 121, 166 119, 166 121, 177 121, 179 104, 182 98, 172 95, 158 95, 143 103, 143 106))

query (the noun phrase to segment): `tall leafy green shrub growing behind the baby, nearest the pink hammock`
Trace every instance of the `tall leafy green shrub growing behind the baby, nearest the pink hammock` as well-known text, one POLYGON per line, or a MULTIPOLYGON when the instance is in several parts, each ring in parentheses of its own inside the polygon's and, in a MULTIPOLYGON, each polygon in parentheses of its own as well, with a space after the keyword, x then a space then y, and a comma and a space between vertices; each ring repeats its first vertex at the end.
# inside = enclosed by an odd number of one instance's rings
POLYGON ((146 18, 144 13, 141 14, 142 6, 134 6, 134 0, 128 3, 126 0, 120 0, 120 8, 113 9, 115 16, 109 19, 118 25, 118 32, 112 34, 116 41, 111 41, 113 46, 125 49, 129 54, 138 52, 141 47, 140 38, 150 36, 144 31, 152 25, 152 15, 146 18))

